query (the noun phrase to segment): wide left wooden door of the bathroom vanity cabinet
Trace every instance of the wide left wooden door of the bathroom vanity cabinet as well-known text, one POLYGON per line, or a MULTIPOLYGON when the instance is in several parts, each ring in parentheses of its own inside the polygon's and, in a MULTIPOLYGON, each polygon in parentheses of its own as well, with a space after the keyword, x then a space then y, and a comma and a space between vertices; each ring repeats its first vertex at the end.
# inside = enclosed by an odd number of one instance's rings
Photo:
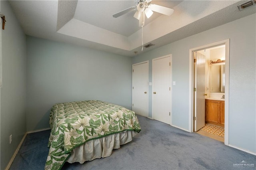
POLYGON ((206 122, 219 123, 218 101, 206 100, 206 122))

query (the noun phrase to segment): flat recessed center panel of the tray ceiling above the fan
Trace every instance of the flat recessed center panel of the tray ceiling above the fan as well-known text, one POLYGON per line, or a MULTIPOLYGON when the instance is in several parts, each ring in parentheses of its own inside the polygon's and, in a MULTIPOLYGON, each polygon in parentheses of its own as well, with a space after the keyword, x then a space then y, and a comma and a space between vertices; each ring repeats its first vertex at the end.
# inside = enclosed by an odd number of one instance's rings
MULTIPOLYGON (((182 2, 181 0, 176 1, 160 1, 155 0, 153 1, 157 2, 158 5, 164 5, 166 7, 172 8, 182 2)), ((114 13, 120 12, 121 10, 124 10, 126 8, 129 8, 131 6, 135 6, 134 0, 123 0, 123 1, 116 1, 116 0, 108 0, 108 1, 90 1, 90 6, 93 6, 93 8, 86 8, 88 5, 88 1, 78 1, 76 12, 74 15, 74 18, 77 20, 80 20, 82 22, 86 22, 88 24, 92 24, 94 26, 97 26, 99 28, 104 28, 108 31, 121 34, 123 36, 130 36, 134 32, 140 30, 140 27, 138 26, 138 20, 136 18, 133 18, 133 15, 136 11, 129 12, 125 14, 124 16, 120 16, 118 18, 113 18, 112 15, 114 13), (86 9, 86 10, 85 10, 86 9), (96 13, 96 15, 95 15, 96 13)), ((161 14, 156 13, 150 17, 146 24, 152 22, 156 18, 161 16, 161 14)))

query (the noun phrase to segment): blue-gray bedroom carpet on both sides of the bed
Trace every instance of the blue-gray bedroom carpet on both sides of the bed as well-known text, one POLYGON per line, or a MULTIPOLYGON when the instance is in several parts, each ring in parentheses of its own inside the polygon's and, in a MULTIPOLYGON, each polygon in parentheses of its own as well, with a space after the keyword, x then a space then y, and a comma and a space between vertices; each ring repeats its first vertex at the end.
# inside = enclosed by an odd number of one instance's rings
MULTIPOLYGON (((142 131, 106 158, 64 170, 240 170, 256 168, 256 156, 217 140, 138 116, 142 131), (246 163, 244 163, 246 162, 246 163)), ((50 130, 26 136, 10 170, 43 170, 50 130)))

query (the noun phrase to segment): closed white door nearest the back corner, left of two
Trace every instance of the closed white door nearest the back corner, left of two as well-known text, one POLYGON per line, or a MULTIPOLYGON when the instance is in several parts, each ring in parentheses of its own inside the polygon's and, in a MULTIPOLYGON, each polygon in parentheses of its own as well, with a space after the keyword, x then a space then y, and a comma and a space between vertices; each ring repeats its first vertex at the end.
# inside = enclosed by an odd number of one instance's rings
POLYGON ((132 111, 148 117, 148 61, 132 65, 132 111))

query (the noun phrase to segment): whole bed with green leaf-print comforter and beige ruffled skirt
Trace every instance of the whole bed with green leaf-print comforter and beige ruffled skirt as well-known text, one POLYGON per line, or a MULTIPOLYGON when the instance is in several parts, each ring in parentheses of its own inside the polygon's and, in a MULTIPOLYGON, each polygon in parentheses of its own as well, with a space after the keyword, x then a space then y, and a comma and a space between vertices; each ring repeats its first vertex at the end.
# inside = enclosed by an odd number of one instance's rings
POLYGON ((133 111, 96 100, 53 105, 50 127, 46 170, 110 156, 141 130, 133 111))

